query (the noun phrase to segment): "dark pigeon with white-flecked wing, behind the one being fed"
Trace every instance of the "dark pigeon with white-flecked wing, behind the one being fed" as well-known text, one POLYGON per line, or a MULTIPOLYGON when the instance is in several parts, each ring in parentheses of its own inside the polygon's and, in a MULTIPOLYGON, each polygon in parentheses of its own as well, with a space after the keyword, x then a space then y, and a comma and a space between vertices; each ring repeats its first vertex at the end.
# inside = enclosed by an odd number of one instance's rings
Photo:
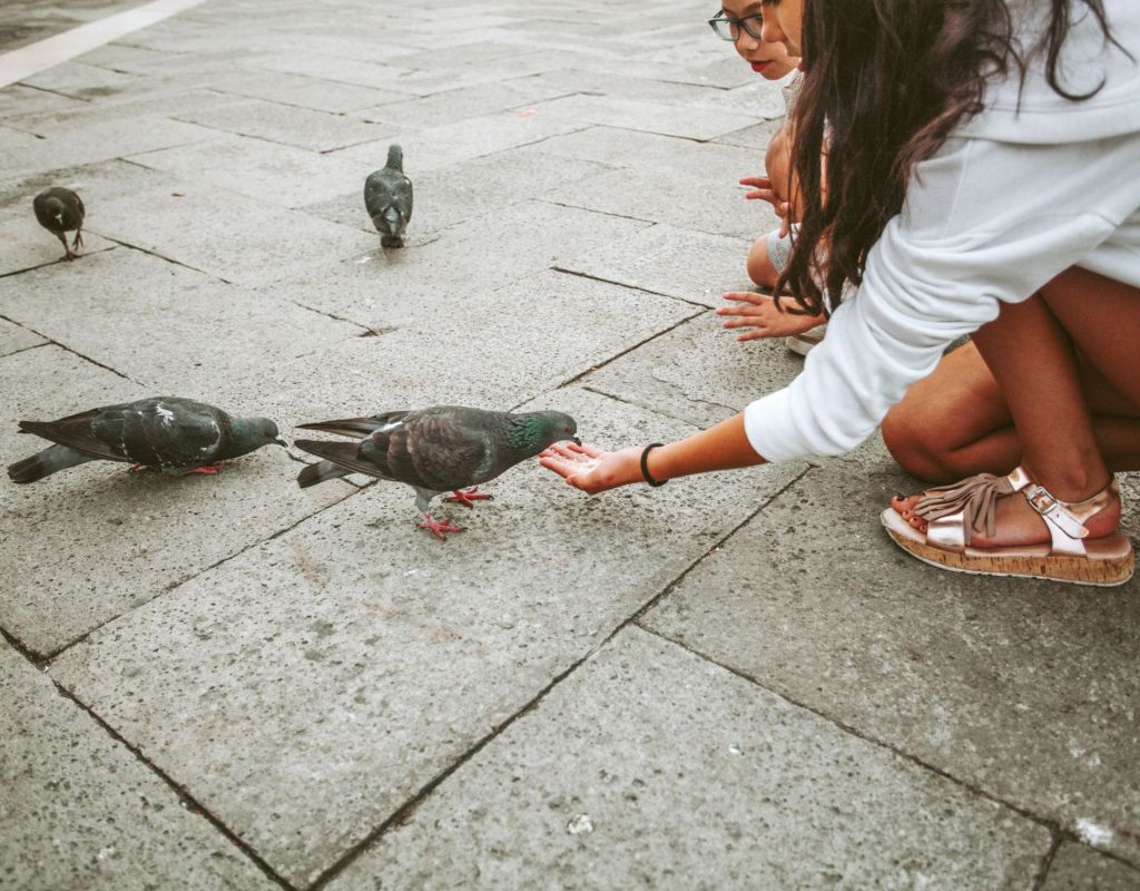
POLYGON ((221 408, 177 396, 107 405, 58 421, 21 421, 19 429, 56 443, 8 468, 21 484, 99 460, 132 463, 132 470, 212 475, 220 461, 270 443, 285 445, 267 418, 230 418, 221 408))

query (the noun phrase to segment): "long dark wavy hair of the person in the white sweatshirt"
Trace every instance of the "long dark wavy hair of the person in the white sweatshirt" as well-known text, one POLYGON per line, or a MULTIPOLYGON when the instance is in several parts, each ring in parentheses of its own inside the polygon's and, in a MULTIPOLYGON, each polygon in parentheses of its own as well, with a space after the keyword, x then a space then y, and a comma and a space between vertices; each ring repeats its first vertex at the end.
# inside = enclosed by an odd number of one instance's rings
MULTIPOLYGON (((828 315, 844 284, 862 281, 868 252, 902 209, 914 165, 982 111, 987 81, 1024 81, 1028 56, 1043 51, 1057 94, 1081 102, 1099 91, 1074 94, 1061 82, 1068 0, 1049 0, 1049 24, 1028 50, 1016 46, 1007 2, 804 0, 804 76, 790 112, 803 219, 775 289, 777 300, 790 294, 798 305, 790 311, 828 315)), ((1119 47, 1102 0, 1080 2, 1119 47)))

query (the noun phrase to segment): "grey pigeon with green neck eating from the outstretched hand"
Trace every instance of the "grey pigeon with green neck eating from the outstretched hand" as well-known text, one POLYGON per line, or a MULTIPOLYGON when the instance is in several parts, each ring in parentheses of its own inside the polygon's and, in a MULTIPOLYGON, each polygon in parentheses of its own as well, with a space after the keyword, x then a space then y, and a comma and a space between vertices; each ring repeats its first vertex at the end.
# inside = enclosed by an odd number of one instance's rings
POLYGON ((324 459, 300 472, 301 488, 355 472, 406 483, 415 489, 416 508, 424 518, 418 528, 443 540, 443 533, 463 532, 463 527, 450 525, 450 518, 432 517, 429 502, 433 497, 451 492, 446 501, 471 508, 474 501, 490 497, 478 491, 478 484, 561 439, 580 444, 573 418, 553 411, 511 414, 438 405, 301 427, 364 437, 355 443, 295 440, 298 448, 324 459))

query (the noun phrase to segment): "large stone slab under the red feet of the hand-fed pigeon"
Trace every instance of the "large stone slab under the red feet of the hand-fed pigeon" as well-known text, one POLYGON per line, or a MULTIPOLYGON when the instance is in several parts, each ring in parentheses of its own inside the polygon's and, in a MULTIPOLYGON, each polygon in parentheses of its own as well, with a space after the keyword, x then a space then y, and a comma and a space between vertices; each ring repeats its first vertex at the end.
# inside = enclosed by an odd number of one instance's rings
MULTIPOLYGON (((535 407, 603 442, 691 431, 584 391, 535 407)), ((447 542, 380 484, 101 629, 52 675, 308 884, 791 473, 591 500, 530 461, 447 542)))

